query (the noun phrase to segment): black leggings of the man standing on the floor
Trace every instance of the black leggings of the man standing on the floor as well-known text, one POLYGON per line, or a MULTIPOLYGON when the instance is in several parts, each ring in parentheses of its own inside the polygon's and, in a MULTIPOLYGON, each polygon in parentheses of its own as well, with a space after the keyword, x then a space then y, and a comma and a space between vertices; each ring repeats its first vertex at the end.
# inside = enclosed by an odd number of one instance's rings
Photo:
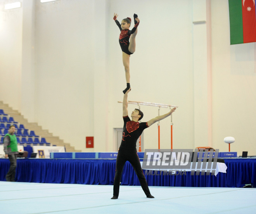
POLYGON ((140 165, 140 159, 138 158, 136 149, 135 150, 119 149, 118 156, 116 158, 116 174, 115 174, 115 180, 114 180, 113 195, 116 197, 118 197, 119 195, 120 180, 121 180, 123 168, 126 161, 129 161, 131 163, 131 166, 133 167, 136 175, 138 176, 140 185, 143 191, 145 192, 145 194, 147 196, 150 195, 149 187, 147 185, 147 180, 142 171, 142 168, 140 165))

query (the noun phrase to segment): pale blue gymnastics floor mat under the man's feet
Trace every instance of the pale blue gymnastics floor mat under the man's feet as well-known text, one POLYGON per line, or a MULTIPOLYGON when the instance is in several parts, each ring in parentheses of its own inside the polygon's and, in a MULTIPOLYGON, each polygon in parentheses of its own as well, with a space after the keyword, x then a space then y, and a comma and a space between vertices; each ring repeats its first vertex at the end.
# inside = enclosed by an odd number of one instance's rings
POLYGON ((255 188, 113 186, 0 181, 0 214, 234 214, 256 213, 255 188))

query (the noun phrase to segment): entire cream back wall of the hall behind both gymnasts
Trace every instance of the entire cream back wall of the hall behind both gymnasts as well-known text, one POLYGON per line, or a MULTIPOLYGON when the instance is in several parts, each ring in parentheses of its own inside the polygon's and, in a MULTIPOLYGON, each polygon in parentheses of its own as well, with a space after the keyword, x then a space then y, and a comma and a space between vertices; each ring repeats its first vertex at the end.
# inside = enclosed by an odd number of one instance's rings
MULTIPOLYGON (((25 75, 22 69, 29 66, 24 65, 26 60, 21 55, 26 41, 22 34, 33 33, 33 27, 22 23, 22 17, 29 20, 22 16, 22 8, 4 11, 4 2, 0 0, 0 77, 5 79, 0 85, 0 99, 76 149, 113 151, 113 128, 123 127, 122 106, 117 102, 123 99, 125 72, 118 44, 119 29, 112 19, 116 12, 119 21, 133 13, 141 21, 136 52, 130 58, 129 100, 179 106, 173 114, 173 148, 192 149, 211 142, 214 148, 227 151, 223 139, 233 136, 236 142, 231 145, 232 151, 241 154, 248 150, 250 155, 255 154, 255 48, 254 43, 229 45, 227 0, 211 1, 211 35, 201 38, 195 34, 192 22, 196 17, 209 15, 206 0, 131 0, 128 4, 121 0, 59 0, 42 4, 36 0, 36 18, 31 22, 31 26, 35 25, 35 69, 25 75), (199 11, 196 15, 195 10, 199 11), (15 46, 6 42, 11 38, 15 46), (212 40, 208 41, 209 38, 212 40), (200 83, 200 78, 195 79, 195 74, 200 77, 200 72, 203 76, 206 71, 195 66, 198 62, 194 54, 198 53, 198 46, 208 48, 209 42, 211 51, 202 63, 207 72, 212 72, 212 79, 201 84, 204 88, 210 84, 211 93, 200 100, 198 94, 195 96, 195 89, 200 88, 195 80, 200 83), (12 63, 13 58, 17 63, 12 63), (209 60, 211 68, 207 67, 209 60), (10 85, 7 72, 14 83, 12 96, 6 93, 10 85), (21 100, 21 75, 35 80, 34 98, 25 98, 23 94, 21 100), (203 114, 200 116, 198 103, 209 104, 208 99, 212 106, 204 112, 208 117, 212 115, 212 123, 202 129, 202 136, 206 137, 200 138, 200 127, 209 120, 203 114), (32 113, 28 114, 29 108, 32 113), (95 137, 94 149, 85 149, 86 136, 95 137)), ((206 33, 208 24, 201 26, 202 32, 206 33)), ((29 56, 33 51, 25 53, 29 56)), ((29 63, 33 63, 31 60, 32 57, 29 63)), ((33 64, 29 69, 32 68, 33 64)), ((33 84, 25 88, 23 85, 22 91, 31 87, 33 84)), ((131 112, 135 107, 130 105, 128 110, 131 112)), ((145 115, 143 121, 158 115, 154 107, 141 106, 141 110, 145 115)), ((167 109, 160 111, 166 112, 167 109)), ((157 137, 154 124, 145 130, 145 148, 157 148, 157 137)), ((161 121, 161 148, 170 148, 170 118, 161 121)))

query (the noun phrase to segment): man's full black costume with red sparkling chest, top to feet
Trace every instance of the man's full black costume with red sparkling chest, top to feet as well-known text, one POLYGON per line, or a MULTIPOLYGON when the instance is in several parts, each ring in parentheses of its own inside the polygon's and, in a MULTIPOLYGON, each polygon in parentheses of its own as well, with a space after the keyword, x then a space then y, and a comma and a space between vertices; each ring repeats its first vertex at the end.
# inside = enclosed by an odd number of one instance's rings
POLYGON ((114 179, 114 193, 112 199, 117 199, 119 195, 119 186, 123 167, 126 161, 129 161, 135 170, 136 175, 140 181, 140 185, 148 198, 154 198, 149 191, 147 180, 144 176, 140 165, 140 159, 138 158, 136 142, 142 134, 143 130, 147 127, 147 123, 139 123, 131 121, 128 116, 123 117, 123 139, 121 146, 118 150, 118 156, 116 158, 116 173, 114 179))

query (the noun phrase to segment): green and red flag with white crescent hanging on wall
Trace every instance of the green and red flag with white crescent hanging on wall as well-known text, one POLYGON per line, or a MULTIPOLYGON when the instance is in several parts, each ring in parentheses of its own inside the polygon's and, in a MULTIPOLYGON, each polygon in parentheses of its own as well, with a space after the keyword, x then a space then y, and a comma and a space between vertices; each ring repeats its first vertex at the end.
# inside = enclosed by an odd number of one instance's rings
POLYGON ((256 42, 255 0, 228 0, 230 45, 256 42))

